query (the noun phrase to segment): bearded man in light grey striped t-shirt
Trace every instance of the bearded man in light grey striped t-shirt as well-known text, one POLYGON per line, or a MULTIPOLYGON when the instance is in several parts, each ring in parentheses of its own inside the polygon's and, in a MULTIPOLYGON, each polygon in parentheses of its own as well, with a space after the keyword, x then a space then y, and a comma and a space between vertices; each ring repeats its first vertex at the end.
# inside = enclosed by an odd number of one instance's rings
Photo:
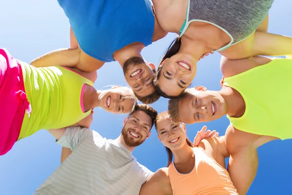
POLYGON ((132 151, 150 136, 156 116, 151 106, 137 105, 114 140, 81 127, 49 130, 57 143, 73 152, 35 195, 138 195, 153 173, 137 162, 132 151))

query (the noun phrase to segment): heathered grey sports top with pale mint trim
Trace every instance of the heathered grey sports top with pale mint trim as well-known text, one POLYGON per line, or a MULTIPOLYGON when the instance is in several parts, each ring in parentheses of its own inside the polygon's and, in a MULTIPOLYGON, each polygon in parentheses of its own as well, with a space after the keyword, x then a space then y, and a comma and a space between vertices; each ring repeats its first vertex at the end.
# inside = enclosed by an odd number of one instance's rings
POLYGON ((222 51, 251 36, 265 19, 273 1, 188 0, 180 37, 193 21, 210 23, 224 31, 231 39, 227 45, 213 52, 222 51))

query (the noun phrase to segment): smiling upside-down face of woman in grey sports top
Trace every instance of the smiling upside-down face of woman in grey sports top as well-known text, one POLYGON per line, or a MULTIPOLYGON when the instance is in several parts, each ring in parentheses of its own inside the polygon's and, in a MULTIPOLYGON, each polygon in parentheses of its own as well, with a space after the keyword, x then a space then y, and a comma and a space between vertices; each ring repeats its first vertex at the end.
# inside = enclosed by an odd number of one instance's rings
POLYGON ((167 96, 179 96, 193 81, 197 73, 197 60, 190 54, 177 53, 161 64, 157 79, 159 88, 167 96))

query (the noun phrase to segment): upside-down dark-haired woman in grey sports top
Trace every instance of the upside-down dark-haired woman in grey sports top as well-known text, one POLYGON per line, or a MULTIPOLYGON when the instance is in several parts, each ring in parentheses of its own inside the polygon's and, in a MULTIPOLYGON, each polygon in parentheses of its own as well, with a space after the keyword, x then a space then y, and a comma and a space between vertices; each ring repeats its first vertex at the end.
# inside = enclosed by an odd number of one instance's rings
POLYGON ((228 59, 291 54, 292 39, 267 33, 273 0, 153 0, 156 18, 179 35, 154 78, 164 98, 179 97, 197 72, 197 61, 218 51, 228 59))

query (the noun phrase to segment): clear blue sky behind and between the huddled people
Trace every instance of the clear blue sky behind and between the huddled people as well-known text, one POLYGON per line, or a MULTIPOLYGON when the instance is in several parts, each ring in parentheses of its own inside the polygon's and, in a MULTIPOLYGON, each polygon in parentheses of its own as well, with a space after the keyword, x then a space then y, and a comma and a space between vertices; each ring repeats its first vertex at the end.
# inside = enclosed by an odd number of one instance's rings
MULTIPOLYGON (((269 32, 292 36, 291 8, 291 0, 274 1, 270 10, 269 32)), ((51 50, 69 47, 69 22, 56 0, 1 0, 0 18, 0 47, 7 48, 17 59, 30 62, 51 50)), ((145 48, 142 52, 144 58, 157 64, 174 37, 169 34, 145 48)), ((219 53, 201 60, 193 86, 204 85, 219 90, 222 77, 219 60, 219 53)), ((107 63, 98 71, 94 86, 102 89, 110 84, 127 85, 117 62, 107 63)), ((162 112, 167 109, 167 100, 161 98, 152 106, 162 112)), ((118 137, 126 115, 113 115, 102 109, 94 111, 91 129, 103 137, 118 137)), ((228 119, 222 117, 208 123, 187 125, 188 137, 192 140, 203 125, 224 135, 228 124, 228 119)), ((292 194, 291 146, 292 140, 277 140, 258 149, 259 168, 248 195, 292 194)), ((9 153, 0 156, 0 195, 32 194, 59 166, 60 153, 61 147, 45 130, 17 142, 9 153)), ((152 135, 133 154, 152 171, 164 167, 167 162, 164 147, 154 128, 152 135)))

